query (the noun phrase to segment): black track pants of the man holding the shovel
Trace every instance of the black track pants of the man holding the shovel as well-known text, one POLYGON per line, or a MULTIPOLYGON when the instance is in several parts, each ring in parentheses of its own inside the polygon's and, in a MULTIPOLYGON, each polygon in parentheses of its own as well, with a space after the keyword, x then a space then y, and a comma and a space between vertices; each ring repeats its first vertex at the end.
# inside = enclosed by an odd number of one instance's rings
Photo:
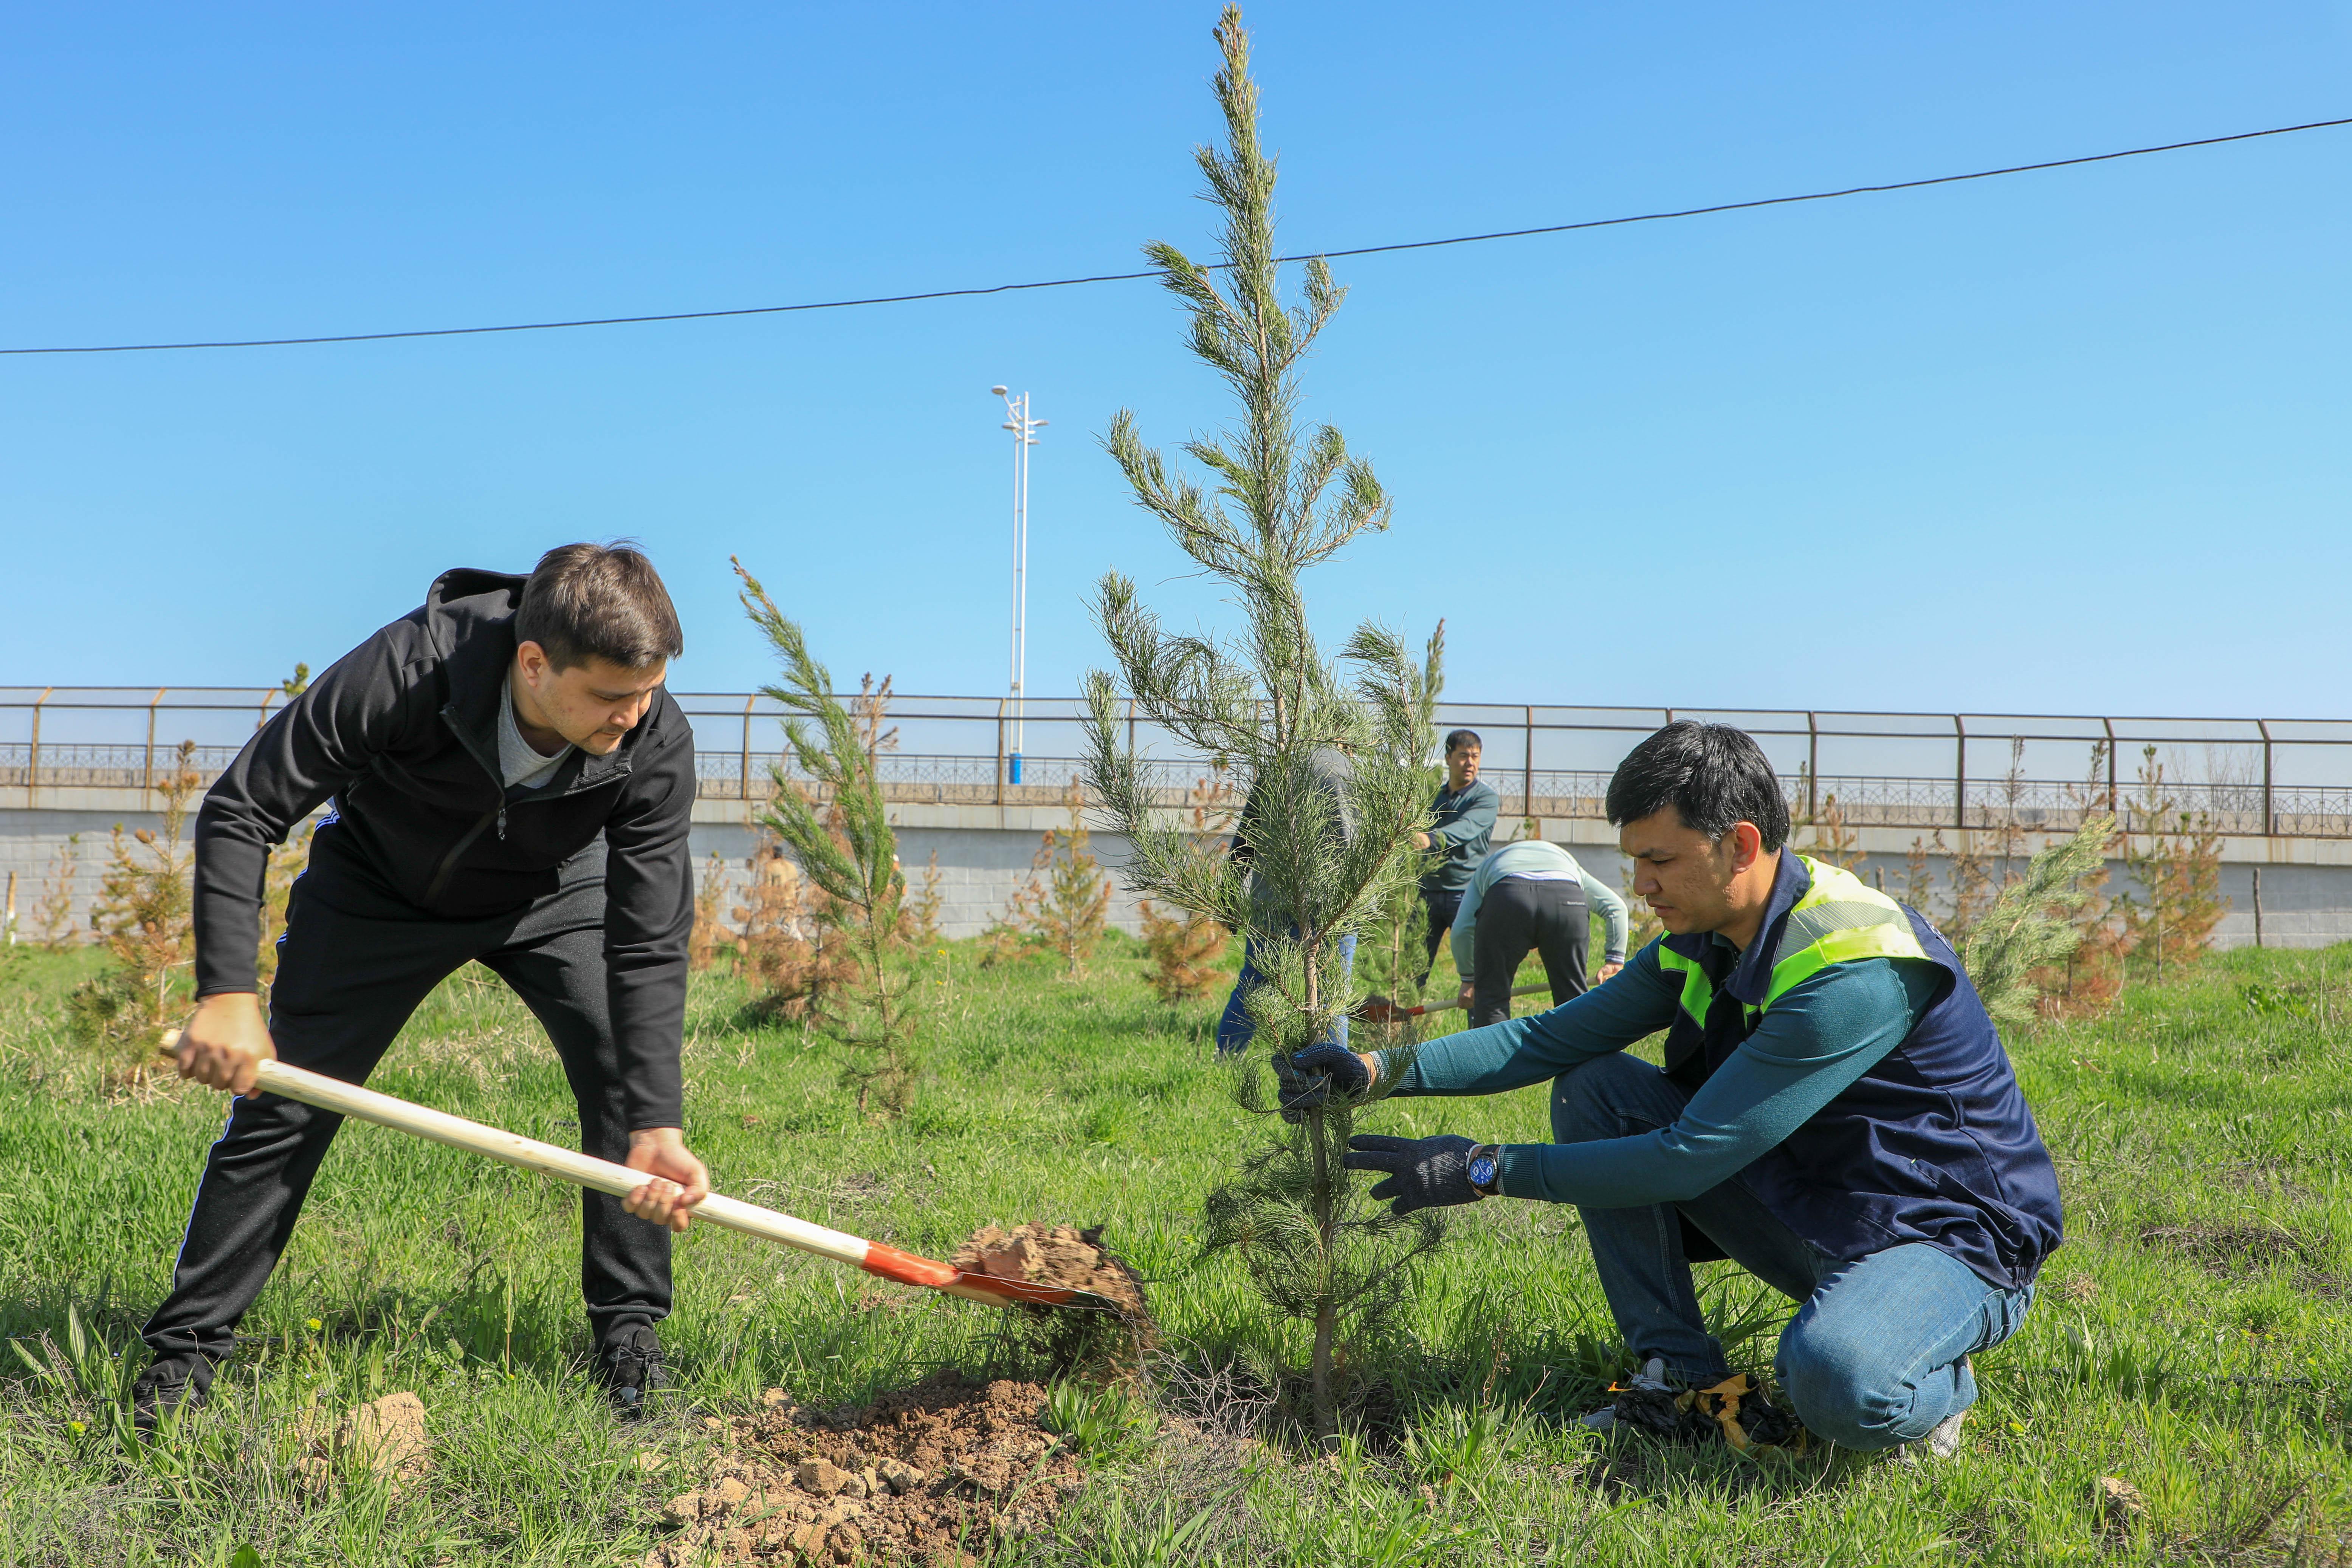
MULTIPOLYGON (((604 844, 564 867, 562 886, 492 919, 430 919, 339 865, 334 827, 318 835, 294 884, 270 987, 280 1060, 365 1084, 416 1004, 480 959, 539 1016, 579 1100, 581 1152, 628 1157, 628 1117, 604 1001, 604 844)), ((261 1295, 320 1159, 343 1117, 296 1100, 238 1100, 212 1145, 172 1269, 172 1293, 143 1338, 155 1361, 202 1382, 228 1359, 238 1319, 261 1295)), ((376 1133, 400 1138, 400 1133, 376 1133)), ((452 1154, 452 1159, 475 1159, 452 1154)), ((430 1215, 414 1215, 419 1225, 430 1215)), ((670 1232, 581 1192, 581 1291, 602 1342, 628 1321, 670 1309, 670 1232)))

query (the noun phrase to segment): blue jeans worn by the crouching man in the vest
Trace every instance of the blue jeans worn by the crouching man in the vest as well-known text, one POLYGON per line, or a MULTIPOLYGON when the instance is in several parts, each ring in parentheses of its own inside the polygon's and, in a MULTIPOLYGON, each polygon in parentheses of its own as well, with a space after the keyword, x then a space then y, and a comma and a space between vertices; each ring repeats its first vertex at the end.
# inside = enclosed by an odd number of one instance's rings
MULTIPOLYGON (((1602 1056, 1552 1081, 1552 1138, 1592 1143, 1653 1133, 1670 1126, 1689 1098, 1649 1063, 1602 1056)), ((1679 1218, 1743 1269, 1804 1302, 1780 1333, 1773 1375, 1797 1418, 1839 1448, 1893 1448, 1973 1406, 1976 1378, 1964 1356, 2013 1335, 2034 1300, 2032 1286, 1987 1286, 1931 1246, 1832 1258, 1780 1222, 1738 1178, 1682 1204, 1578 1213, 1628 1349, 1637 1361, 1663 1356, 1698 1387, 1724 1378, 1729 1366, 1698 1309, 1679 1218)))

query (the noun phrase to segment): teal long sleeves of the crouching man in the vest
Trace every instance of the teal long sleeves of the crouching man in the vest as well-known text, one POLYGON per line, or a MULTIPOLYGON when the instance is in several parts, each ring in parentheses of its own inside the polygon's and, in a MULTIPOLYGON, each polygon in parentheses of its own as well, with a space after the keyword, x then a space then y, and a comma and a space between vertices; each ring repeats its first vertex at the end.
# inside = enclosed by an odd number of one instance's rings
MULTIPOLYGON (((1585 1208, 1693 1199, 1745 1171, 1903 1044, 1940 978, 1919 959, 1832 964, 1773 999, 1672 1126, 1597 1143, 1508 1143, 1496 1187, 1585 1208)), ((1557 1079, 1668 1027, 1679 997, 1651 943, 1613 980, 1548 1013, 1432 1039, 1392 1093, 1486 1095, 1557 1079)))

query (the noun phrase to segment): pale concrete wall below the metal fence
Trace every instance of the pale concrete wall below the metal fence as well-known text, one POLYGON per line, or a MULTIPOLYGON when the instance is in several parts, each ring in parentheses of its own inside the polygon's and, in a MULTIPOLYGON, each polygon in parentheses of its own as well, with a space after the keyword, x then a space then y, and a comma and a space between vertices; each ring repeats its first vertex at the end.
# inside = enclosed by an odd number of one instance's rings
MULTIPOLYGON (((54 867, 68 835, 82 837, 80 875, 75 877, 75 922, 87 922, 89 900, 108 858, 108 832, 122 827, 158 827, 160 813, 143 811, 139 790, 42 790, 38 811, 0 806, 0 879, 16 872, 19 929, 31 929, 33 905, 54 867)), ((898 806, 898 858, 908 882, 922 886, 929 858, 938 856, 941 929, 948 936, 978 936, 1035 875, 1033 856, 1047 827, 1068 823, 1058 806, 898 806)), ((1512 835, 1515 823, 1503 832, 1512 835)), ((1606 823, 1585 818, 1545 818, 1541 832, 1566 844, 1611 886, 1625 886, 1625 863, 1616 853, 1616 835, 1606 823)), ((1884 872, 1898 889, 1905 877, 1910 830, 1863 827, 1865 875, 1884 872)), ((741 802, 699 802, 694 806, 696 858, 717 853, 729 860, 734 882, 743 877, 753 830, 741 802)), ((1096 835, 1094 853, 1105 867, 1117 867, 1127 842, 1096 835)), ((2039 839, 2027 839, 2027 853, 2039 839)), ((1938 879, 1947 879, 1945 865, 1938 879)), ((2347 839, 2223 839, 2223 893, 2230 910, 2216 931, 2216 945, 2239 947, 2256 940, 2253 875, 2263 877, 2263 943, 2272 947, 2321 947, 2352 940, 2352 842, 2347 839)), ((2122 863, 2110 863, 2112 891, 2129 879, 2122 863)), ((1112 889, 1110 917, 1117 926, 1138 926, 1136 903, 1124 889, 1112 889)))

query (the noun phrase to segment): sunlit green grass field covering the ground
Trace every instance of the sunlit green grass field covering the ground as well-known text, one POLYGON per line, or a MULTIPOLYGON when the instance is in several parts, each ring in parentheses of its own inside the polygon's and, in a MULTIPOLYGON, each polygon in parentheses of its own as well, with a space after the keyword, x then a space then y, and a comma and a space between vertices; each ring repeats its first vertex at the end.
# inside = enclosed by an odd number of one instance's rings
MULTIPOLYGON (((680 1396, 619 1422, 579 1375, 572 1190, 350 1126, 214 1401, 167 1443, 125 1443, 111 1392, 143 1354, 221 1100, 108 1093, 56 1030, 87 966, 0 971, 0 1335, 68 1368, 35 1378, 0 1352, 5 1563, 226 1566, 242 1547, 270 1566, 635 1563, 661 1540, 659 1502, 708 1462, 703 1410, 1016 1354, 983 1307, 696 1227, 663 1326, 680 1396), (78 1363, 68 1314, 87 1326, 78 1363), (430 1472, 400 1493, 301 1493, 303 1410, 395 1389, 430 1413, 430 1472)), ((896 1126, 861 1124, 816 1041, 736 1027, 739 987, 703 978, 689 1138, 724 1192, 929 1255, 985 1220, 1103 1222, 1152 1279, 1174 1354, 1298 1354, 1237 1269, 1195 1265, 1200 1199, 1258 1133, 1207 1060, 1214 1004, 1162 1006, 1141 973, 1124 938, 1080 983, 976 971, 964 945, 929 954, 931 1079, 896 1126)), ((1573 1415, 1618 1368, 1576 1213, 1491 1201, 1461 1211, 1399 1338, 1362 1352, 1402 1441, 1336 1460, 1211 1448, 1138 1399, 1096 1434, 1061 1533, 997 1561, 2352 1561, 2347 1048, 2352 947, 2216 957, 2110 1018, 2011 1041, 2067 1246, 2025 1333, 1978 1361, 1985 1399, 1950 1465, 1759 1465, 1585 1434, 1573 1415), (2133 1483, 2145 1516, 2105 1521, 2100 1476, 2133 1483)), ((553 1051, 480 973, 433 997, 376 1086, 572 1135, 553 1051)), ((1374 1124, 1534 1140, 1543 1105, 1538 1086, 1392 1103, 1374 1124)), ((1705 1272, 1726 1333, 1748 1335, 1736 1363, 1766 1366, 1790 1305, 1705 1272)))

